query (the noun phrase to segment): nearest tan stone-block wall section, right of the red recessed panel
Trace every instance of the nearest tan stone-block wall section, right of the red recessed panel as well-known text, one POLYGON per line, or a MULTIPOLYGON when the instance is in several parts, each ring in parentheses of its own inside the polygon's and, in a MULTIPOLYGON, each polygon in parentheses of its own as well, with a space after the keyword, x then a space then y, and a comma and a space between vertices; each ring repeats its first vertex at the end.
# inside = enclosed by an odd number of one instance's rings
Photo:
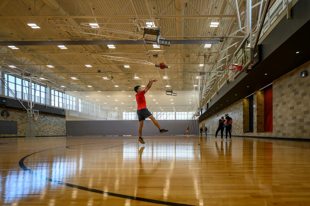
POLYGON ((273 133, 310 138, 310 61, 273 82, 273 133), (300 78, 307 70, 308 76, 300 78))

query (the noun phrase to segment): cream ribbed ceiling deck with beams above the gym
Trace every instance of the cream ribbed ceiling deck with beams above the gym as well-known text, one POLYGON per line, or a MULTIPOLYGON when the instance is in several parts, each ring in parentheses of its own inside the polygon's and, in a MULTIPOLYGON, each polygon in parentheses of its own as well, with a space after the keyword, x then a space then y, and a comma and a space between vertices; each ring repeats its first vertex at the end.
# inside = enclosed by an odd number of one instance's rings
MULTIPOLYGON (((244 1, 237 2, 241 25, 244 25, 244 1)), ((252 1, 252 28, 257 25, 261 2, 252 1)), ((263 6, 265 3, 263 1, 263 6)), ((194 85, 200 84, 206 91, 209 82, 205 84, 205 78, 215 78, 216 62, 218 71, 223 71, 244 38, 236 8, 236 0, 2 0, 0 65, 6 73, 45 78, 40 80, 42 84, 80 94, 125 91, 122 93, 126 97, 134 96, 134 86, 147 85, 148 79, 152 78, 158 80, 151 89, 154 93, 165 94, 166 85, 169 85, 168 88, 174 91, 188 91, 188 97, 182 94, 189 98, 185 102, 190 102, 194 87, 198 89, 194 85), (146 22, 154 22, 160 28, 162 38, 185 41, 160 45, 160 48, 136 44, 143 40, 146 22), (211 22, 219 22, 219 26, 210 27, 211 22), (40 28, 31 28, 29 23, 40 28), (98 27, 91 28, 90 23, 97 23, 98 27), (204 44, 193 44, 190 40, 217 40, 219 43, 205 48, 204 44), (3 43, 8 41, 18 49, 4 46, 3 43), (38 43, 31 45, 32 41, 38 43), (67 49, 60 49, 56 43, 61 41, 72 43, 64 44, 67 49), (80 41, 90 43, 81 44, 80 41), (93 41, 102 43, 94 45, 93 41), (108 48, 106 42, 115 42, 115 48, 108 48), (169 68, 154 66, 160 62, 169 68), (202 78, 202 72, 205 72, 204 81, 199 81, 197 76, 202 78)), ((151 92, 147 94, 151 95, 151 92)), ((186 107, 192 106, 184 105, 186 107)))

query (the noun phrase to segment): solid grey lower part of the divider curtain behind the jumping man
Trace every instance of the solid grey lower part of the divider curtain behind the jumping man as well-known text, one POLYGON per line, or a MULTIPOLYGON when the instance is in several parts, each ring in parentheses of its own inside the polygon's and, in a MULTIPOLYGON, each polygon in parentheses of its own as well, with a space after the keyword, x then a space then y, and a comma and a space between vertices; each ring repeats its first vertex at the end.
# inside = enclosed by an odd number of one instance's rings
MULTIPOLYGON (((189 134, 198 134, 198 120, 157 120, 163 129, 169 131, 162 135, 184 135, 187 124, 189 134)), ((139 135, 139 121, 106 120, 106 121, 66 121, 66 135, 139 135)), ((142 135, 160 135, 159 129, 151 120, 145 120, 142 135)))

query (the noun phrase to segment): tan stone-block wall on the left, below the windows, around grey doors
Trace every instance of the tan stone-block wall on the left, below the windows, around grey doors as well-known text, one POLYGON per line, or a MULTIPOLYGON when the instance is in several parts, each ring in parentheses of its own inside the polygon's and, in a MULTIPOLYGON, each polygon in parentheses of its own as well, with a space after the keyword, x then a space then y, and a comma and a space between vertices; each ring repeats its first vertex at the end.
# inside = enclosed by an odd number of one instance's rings
POLYGON ((10 114, 7 118, 1 118, 5 121, 17 121, 17 134, 0 134, 0 137, 24 137, 26 122, 34 122, 36 125, 36 136, 62 136, 65 135, 66 118, 55 115, 47 115, 39 113, 37 120, 33 117, 28 117, 27 112, 13 109, 7 110, 10 114), (46 117, 44 117, 46 116, 46 117))

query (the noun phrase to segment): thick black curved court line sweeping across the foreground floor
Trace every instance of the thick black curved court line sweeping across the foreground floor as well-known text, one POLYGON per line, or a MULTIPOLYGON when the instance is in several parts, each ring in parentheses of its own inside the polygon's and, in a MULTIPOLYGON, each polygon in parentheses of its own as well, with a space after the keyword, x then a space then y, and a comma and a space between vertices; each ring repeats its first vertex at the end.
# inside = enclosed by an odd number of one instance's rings
MULTIPOLYGON (((71 145, 74 146, 74 145, 71 145)), ((66 146, 64 146, 66 147, 66 146)), ((70 147, 70 146, 68 146, 70 147)), ((55 148, 51 148, 51 149, 47 149, 47 150, 52 150, 52 149, 58 149, 58 148, 62 148, 62 147, 55 147, 55 148)), ((110 195, 110 196, 114 196, 114 197, 120 197, 120 198, 125 198, 125 199, 133 199, 133 200, 138 200, 138 201, 142 201, 142 202, 149 202, 149 203, 155 203, 155 204, 162 204, 162 205, 171 205, 171 206, 195 206, 195 205, 191 205, 191 204, 181 204, 181 203, 173 203, 173 202, 166 202, 166 201, 161 201, 161 200, 156 200, 156 199, 148 199, 148 198, 142 198, 142 197, 135 197, 135 196, 130 196, 130 195, 122 195, 122 194, 118 194, 118 193, 113 193, 113 192, 106 192, 106 191, 102 191, 102 190, 96 190, 96 189, 92 189, 92 188, 88 188, 88 187, 83 187, 83 186, 78 186, 78 185, 73 185, 67 182, 62 182, 59 180, 55 180, 49 177, 45 177, 43 175, 40 175, 30 169, 28 169, 25 164, 24 164, 24 160, 34 154, 37 154, 39 152, 43 152, 43 151, 47 151, 47 150, 42 150, 42 151, 38 151, 38 152, 34 152, 30 155, 24 156, 23 158, 20 159, 19 161, 19 166, 21 169, 23 169, 25 172, 28 172, 32 175, 35 175, 36 177, 40 177, 41 179, 45 179, 47 181, 50 182, 54 182, 60 185, 65 185, 68 187, 73 187, 76 189, 80 189, 80 190, 84 190, 84 191, 89 191, 89 192, 95 192, 95 193, 99 193, 99 194, 103 194, 103 195, 110 195)))

